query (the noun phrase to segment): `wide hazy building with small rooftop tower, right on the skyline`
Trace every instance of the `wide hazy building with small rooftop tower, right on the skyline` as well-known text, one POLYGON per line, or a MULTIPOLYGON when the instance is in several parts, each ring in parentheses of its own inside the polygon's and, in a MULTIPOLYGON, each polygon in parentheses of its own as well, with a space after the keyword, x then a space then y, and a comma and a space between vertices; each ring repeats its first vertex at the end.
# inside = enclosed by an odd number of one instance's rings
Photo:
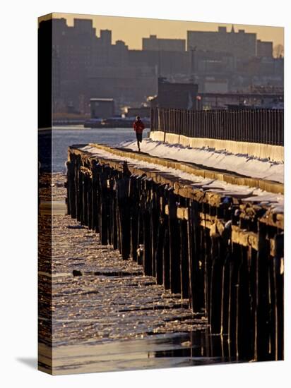
POLYGON ((227 32, 226 27, 218 31, 187 31, 187 50, 229 52, 236 57, 256 56, 256 34, 238 30, 227 32))

